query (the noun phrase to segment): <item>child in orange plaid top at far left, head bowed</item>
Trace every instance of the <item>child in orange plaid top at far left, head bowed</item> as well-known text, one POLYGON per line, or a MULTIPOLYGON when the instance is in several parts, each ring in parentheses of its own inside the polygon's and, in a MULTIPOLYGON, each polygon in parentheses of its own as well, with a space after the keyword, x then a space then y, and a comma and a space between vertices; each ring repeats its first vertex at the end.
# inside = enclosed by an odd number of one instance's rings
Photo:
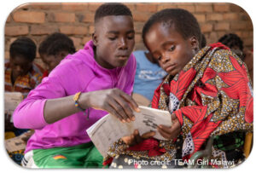
MULTIPOLYGON (((19 37, 10 44, 9 62, 5 63, 4 70, 4 91, 20 92, 23 98, 26 98, 28 92, 41 83, 44 70, 33 62, 36 58, 36 51, 37 46, 29 37, 19 37)), ((27 131, 27 128, 15 128, 10 114, 5 116, 4 128, 5 140, 20 136, 27 131)), ((20 164, 24 149, 9 152, 10 158, 20 164)))

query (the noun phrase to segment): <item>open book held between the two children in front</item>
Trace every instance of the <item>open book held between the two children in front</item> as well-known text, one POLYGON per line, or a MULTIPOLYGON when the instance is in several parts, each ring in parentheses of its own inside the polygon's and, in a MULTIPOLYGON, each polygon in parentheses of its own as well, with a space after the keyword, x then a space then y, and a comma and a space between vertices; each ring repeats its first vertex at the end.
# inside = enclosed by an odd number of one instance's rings
POLYGON ((134 130, 138 130, 140 135, 148 131, 155 131, 154 138, 165 139, 160 136, 157 126, 160 124, 172 125, 170 112, 143 106, 139 108, 141 112, 134 112, 136 119, 131 123, 121 123, 118 118, 108 114, 86 130, 103 157, 107 156, 108 149, 113 142, 118 141, 121 137, 130 136, 134 130))

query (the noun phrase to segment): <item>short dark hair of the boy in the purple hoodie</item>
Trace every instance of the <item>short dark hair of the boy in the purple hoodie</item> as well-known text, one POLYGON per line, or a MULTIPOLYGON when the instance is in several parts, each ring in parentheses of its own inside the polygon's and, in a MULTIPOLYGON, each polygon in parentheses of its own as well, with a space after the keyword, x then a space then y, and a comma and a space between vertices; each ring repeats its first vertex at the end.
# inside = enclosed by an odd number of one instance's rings
POLYGON ((129 15, 132 17, 131 10, 122 3, 104 3, 98 9, 94 16, 94 23, 102 17, 108 15, 129 15))

